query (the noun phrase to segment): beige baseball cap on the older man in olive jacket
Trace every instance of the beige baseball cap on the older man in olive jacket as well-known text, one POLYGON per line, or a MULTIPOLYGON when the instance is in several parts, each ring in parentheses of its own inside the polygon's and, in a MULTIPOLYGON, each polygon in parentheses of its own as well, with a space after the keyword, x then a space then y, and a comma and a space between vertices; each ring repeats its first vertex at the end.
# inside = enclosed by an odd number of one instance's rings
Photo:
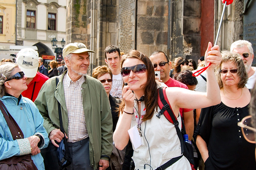
POLYGON ((93 50, 87 49, 83 43, 69 43, 63 48, 62 56, 66 57, 70 53, 79 54, 84 52, 95 53, 93 50))

